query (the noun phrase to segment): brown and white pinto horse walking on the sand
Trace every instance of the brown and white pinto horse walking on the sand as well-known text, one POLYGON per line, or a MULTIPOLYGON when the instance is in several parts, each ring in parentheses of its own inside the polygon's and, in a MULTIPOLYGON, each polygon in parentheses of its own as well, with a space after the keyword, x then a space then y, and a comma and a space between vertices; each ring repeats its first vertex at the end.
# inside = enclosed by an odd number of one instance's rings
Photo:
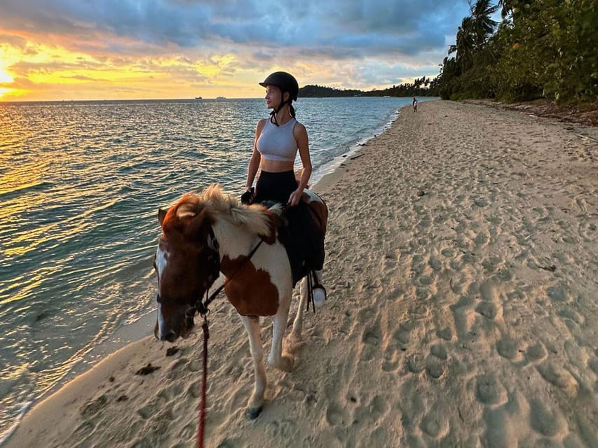
MULTIPOLYGON (((325 232, 326 205, 308 190, 304 200, 315 211, 325 232)), ((247 403, 247 416, 251 419, 261 412, 266 389, 259 335, 261 316, 274 316, 268 362, 285 371, 292 370, 294 362, 291 355, 283 353, 292 274, 287 252, 278 239, 281 213, 280 206, 266 209, 258 204, 239 204, 234 197, 224 195, 218 185, 212 185, 200 195, 184 195, 168 211, 159 214, 162 235, 154 262, 158 274, 158 319, 154 334, 169 342, 187 335, 192 325, 189 314, 222 272, 227 278, 226 297, 237 309, 249 335, 255 374, 254 391, 247 403)), ((301 339, 306 302, 307 285, 303 279, 299 309, 290 334, 294 341, 301 339)))

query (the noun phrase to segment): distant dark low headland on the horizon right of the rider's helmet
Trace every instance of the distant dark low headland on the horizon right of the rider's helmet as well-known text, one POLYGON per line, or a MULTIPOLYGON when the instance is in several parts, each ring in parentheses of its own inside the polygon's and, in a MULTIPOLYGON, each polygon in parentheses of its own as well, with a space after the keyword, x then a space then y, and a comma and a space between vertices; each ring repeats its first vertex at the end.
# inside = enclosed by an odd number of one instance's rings
POLYGON ((424 76, 413 83, 393 85, 383 90, 337 89, 323 85, 306 85, 299 89, 299 98, 331 98, 331 97, 437 97, 436 78, 424 76))

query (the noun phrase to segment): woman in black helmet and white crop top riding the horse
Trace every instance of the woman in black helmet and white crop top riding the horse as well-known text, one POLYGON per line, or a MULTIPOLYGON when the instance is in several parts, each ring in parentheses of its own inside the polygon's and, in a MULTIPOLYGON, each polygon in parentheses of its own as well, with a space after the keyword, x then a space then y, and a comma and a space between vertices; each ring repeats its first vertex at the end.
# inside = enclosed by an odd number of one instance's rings
POLYGON ((270 117, 259 120, 255 128, 253 153, 241 202, 287 205, 285 218, 289 235, 285 246, 294 285, 308 270, 322 269, 324 261, 323 235, 313 222, 307 204, 301 201, 312 171, 309 140, 305 126, 295 118, 292 102, 297 100, 299 83, 294 76, 276 71, 259 85, 266 87, 266 107, 272 111, 270 117), (297 152, 301 158, 299 180, 294 173, 297 152), (261 172, 253 188, 259 168, 261 172))

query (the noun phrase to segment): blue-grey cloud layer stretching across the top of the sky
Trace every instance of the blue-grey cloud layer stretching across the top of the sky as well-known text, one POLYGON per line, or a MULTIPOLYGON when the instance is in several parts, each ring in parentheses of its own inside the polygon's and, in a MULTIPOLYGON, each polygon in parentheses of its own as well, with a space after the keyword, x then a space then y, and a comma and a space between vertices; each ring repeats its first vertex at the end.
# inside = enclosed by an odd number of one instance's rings
POLYGON ((74 38, 108 35, 183 49, 283 46, 342 59, 391 50, 414 54, 442 46, 444 36, 454 32, 467 13, 466 2, 460 3, 461 7, 453 0, 4 0, 0 26, 25 24, 32 32, 74 38))

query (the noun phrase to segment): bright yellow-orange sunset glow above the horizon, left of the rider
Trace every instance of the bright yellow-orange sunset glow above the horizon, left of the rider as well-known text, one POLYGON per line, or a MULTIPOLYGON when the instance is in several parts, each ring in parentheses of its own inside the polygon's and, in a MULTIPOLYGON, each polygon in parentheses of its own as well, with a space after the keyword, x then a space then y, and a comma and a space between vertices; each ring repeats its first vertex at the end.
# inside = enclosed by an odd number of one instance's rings
POLYGON ((156 48, 156 55, 123 57, 90 42, 82 50, 55 36, 51 43, 43 36, 19 37, 19 45, 0 43, 0 101, 260 96, 247 80, 256 79, 257 86, 261 73, 239 69, 229 52, 185 55, 156 48))

